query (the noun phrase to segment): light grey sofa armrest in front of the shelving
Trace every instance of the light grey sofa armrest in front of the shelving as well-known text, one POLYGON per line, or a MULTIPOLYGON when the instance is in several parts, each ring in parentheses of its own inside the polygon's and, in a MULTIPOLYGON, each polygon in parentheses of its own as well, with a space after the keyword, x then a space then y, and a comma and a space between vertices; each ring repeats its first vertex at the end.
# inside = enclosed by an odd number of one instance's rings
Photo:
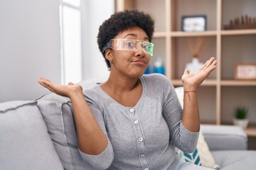
POLYGON ((238 126, 201 125, 201 132, 211 151, 247 149, 247 135, 238 126))

